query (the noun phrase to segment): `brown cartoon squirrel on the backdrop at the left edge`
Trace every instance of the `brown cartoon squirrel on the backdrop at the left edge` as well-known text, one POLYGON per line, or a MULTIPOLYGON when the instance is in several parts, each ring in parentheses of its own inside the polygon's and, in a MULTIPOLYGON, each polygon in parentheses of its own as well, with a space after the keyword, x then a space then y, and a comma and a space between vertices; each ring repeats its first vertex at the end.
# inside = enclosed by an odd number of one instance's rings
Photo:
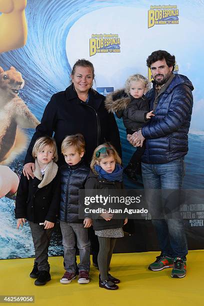
POLYGON ((14 67, 0 67, 0 164, 7 164, 26 147, 22 128, 35 128, 39 121, 17 95, 24 85, 14 67))

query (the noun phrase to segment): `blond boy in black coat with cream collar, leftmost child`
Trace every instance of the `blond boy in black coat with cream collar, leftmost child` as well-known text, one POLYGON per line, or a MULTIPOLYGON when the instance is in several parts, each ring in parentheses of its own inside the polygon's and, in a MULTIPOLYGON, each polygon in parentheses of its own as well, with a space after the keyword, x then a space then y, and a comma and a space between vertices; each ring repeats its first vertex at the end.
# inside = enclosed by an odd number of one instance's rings
POLYGON ((59 210, 60 177, 56 143, 53 138, 40 137, 32 149, 35 158, 34 178, 21 174, 15 202, 17 229, 28 220, 35 249, 34 266, 30 277, 35 285, 50 280, 48 246, 59 210))

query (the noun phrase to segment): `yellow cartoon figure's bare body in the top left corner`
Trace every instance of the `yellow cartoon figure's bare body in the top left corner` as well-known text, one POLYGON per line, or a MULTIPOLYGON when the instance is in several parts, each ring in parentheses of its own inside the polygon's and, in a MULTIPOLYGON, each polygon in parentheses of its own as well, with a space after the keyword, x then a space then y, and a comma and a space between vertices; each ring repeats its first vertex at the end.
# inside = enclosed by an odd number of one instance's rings
POLYGON ((0 53, 22 47, 27 39, 27 0, 0 0, 0 53))

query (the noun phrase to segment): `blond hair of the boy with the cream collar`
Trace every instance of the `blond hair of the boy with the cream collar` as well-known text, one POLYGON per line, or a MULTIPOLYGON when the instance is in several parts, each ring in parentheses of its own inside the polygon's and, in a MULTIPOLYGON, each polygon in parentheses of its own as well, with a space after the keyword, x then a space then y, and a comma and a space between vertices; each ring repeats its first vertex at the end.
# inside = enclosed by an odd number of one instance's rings
POLYGON ((43 148, 48 145, 51 149, 53 149, 53 161, 57 161, 58 160, 58 155, 57 155, 57 148, 56 148, 56 142, 54 140, 54 138, 51 137, 47 137, 47 136, 43 136, 43 137, 39 137, 35 143, 34 146, 32 148, 32 157, 36 158, 37 153, 41 150, 43 150, 43 148))

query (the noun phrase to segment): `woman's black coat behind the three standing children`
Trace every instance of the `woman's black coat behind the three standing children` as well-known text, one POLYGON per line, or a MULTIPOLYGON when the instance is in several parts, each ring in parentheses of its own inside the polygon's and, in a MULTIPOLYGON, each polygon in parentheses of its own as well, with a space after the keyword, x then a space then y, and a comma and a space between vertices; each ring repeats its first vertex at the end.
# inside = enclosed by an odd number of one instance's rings
POLYGON ((81 101, 73 85, 52 95, 44 109, 41 123, 37 125, 25 156, 25 163, 33 162, 32 147, 37 138, 52 136, 57 145, 58 165, 65 163, 61 152, 61 142, 67 135, 81 133, 85 139, 84 162, 89 165, 96 146, 109 141, 121 156, 119 131, 112 113, 104 107, 105 97, 89 89, 89 100, 81 101))

